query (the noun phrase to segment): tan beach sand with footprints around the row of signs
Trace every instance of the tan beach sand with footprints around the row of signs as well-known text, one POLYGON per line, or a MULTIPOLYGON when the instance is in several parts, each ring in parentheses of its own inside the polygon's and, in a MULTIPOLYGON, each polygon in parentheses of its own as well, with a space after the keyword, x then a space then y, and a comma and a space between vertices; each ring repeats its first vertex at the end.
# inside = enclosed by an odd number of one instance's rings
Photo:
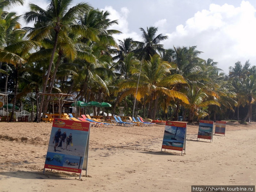
MULTIPOLYGON (((215 126, 214 126, 215 127, 215 126)), ((226 136, 197 140, 187 126, 185 154, 161 151, 164 125, 91 128, 88 172, 46 169, 52 124, 0 122, 0 191, 191 191, 191 185, 255 185, 256 123, 227 123, 226 136)), ((75 138, 73 138, 75 139, 75 138)))

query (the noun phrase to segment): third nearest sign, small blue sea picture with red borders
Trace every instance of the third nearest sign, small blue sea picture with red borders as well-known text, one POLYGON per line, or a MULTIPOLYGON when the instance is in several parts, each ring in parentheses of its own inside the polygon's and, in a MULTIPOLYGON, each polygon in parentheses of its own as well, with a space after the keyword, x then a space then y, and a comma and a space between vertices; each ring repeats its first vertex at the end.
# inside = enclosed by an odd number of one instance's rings
POLYGON ((212 140, 213 121, 200 120, 197 139, 210 139, 212 140))

